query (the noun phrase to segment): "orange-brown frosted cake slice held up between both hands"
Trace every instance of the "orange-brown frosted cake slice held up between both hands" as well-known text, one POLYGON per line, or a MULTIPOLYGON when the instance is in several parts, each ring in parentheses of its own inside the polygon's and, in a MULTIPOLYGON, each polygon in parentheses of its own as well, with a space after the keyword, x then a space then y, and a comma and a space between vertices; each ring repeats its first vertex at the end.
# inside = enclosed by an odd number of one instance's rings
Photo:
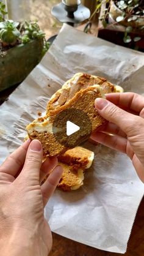
MULTIPOLYGON (((106 122, 106 120, 103 119, 95 109, 94 103, 97 97, 104 97, 103 91, 99 85, 89 86, 88 88, 81 89, 80 91, 76 92, 73 98, 68 100, 68 102, 66 102, 64 105, 56 108, 56 110, 49 111, 48 115, 45 117, 35 119, 34 122, 29 124, 26 127, 29 138, 31 138, 31 140, 37 138, 41 141, 44 156, 59 156, 59 154, 62 154, 69 148, 74 148, 75 146, 80 145, 82 142, 88 139, 88 136, 90 136, 91 132, 106 122), (53 133, 55 128, 53 124, 56 117, 59 115, 59 113, 67 109, 70 111, 67 115, 63 116, 63 118, 69 120, 70 115, 74 115, 76 121, 81 121, 82 126, 83 120, 79 115, 75 115, 75 113, 73 114, 73 112, 75 110, 83 111, 85 115, 88 116, 90 120, 90 126, 92 126, 90 127, 90 132, 86 126, 83 127, 83 132, 81 132, 81 129, 76 132, 73 136, 73 140, 71 141, 70 146, 67 146, 68 137, 65 130, 62 129, 59 134, 59 137, 65 141, 63 144, 59 143, 56 138, 56 134, 53 133)), ((58 121, 59 126, 63 127, 63 119, 60 118, 58 121)), ((56 127, 56 129, 57 128, 59 131, 59 127, 56 127)))

